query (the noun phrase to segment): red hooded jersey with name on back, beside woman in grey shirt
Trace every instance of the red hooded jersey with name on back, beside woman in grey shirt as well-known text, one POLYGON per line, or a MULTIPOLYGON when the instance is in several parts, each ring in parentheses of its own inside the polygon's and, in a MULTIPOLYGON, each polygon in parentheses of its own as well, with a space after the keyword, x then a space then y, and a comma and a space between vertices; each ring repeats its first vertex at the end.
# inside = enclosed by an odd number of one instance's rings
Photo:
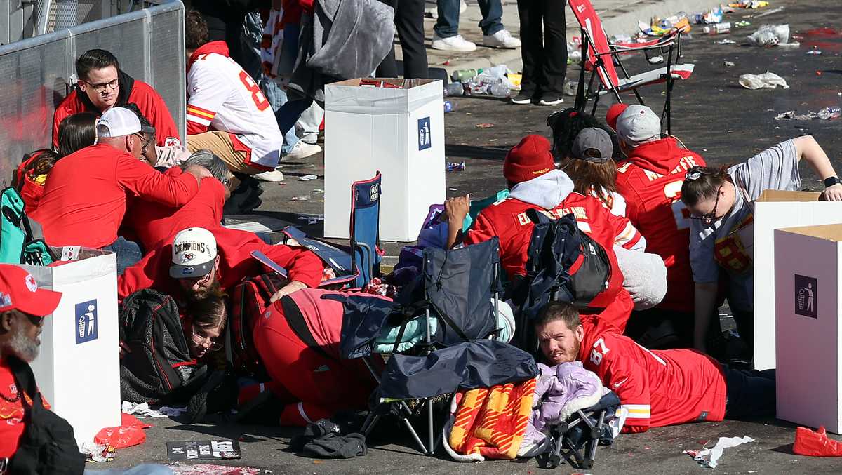
POLYGON ((626 197, 626 216, 646 237, 646 251, 667 266, 667 294, 657 308, 693 312, 690 214, 681 202, 681 184, 687 169, 705 166, 705 160, 674 142, 668 137, 634 149, 617 166, 617 189, 626 197), (648 155, 657 155, 658 163, 648 155))

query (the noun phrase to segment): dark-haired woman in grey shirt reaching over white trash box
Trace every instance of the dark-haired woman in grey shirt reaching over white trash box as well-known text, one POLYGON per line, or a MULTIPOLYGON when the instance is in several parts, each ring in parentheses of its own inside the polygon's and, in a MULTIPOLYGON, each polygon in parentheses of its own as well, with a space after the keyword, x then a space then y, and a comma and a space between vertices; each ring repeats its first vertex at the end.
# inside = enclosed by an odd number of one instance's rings
POLYGON ((681 200, 690 211, 690 266, 695 281, 693 344, 706 350, 717 307, 719 271, 727 273, 727 298, 740 336, 754 341, 754 276, 750 249, 740 235, 753 232, 754 200, 764 189, 801 187, 804 159, 824 180, 822 200, 842 201, 842 182, 813 136, 781 142, 731 168, 693 167, 685 173, 681 200))

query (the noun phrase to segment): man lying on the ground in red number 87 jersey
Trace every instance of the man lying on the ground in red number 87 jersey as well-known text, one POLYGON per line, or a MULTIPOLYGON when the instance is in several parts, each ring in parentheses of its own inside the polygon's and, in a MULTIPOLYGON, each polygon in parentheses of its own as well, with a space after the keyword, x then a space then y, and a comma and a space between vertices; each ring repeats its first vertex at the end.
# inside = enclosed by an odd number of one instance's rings
POLYGON ((547 364, 582 361, 616 392, 624 432, 775 414, 774 370, 729 369, 696 350, 647 350, 567 302, 548 304, 535 325, 547 364))

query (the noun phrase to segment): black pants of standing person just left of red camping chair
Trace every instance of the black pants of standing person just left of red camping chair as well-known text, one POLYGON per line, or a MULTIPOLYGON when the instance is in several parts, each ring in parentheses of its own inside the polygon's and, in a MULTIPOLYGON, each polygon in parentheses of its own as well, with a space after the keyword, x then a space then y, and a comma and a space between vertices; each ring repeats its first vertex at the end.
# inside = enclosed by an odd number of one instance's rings
POLYGON ((523 42, 520 56, 524 61, 521 93, 552 93, 561 97, 568 72, 565 5, 567 2, 557 0, 518 0, 523 42))

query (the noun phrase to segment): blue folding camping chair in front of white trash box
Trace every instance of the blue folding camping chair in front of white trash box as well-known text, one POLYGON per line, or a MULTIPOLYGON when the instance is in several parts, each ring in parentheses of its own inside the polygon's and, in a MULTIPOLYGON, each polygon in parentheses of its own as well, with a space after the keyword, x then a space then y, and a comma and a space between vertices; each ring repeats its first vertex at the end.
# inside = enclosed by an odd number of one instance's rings
POLYGON ((351 184, 350 245, 336 246, 307 235, 297 227, 281 230, 286 239, 294 239, 301 246, 316 253, 327 263, 336 277, 323 280, 320 287, 345 285, 362 288, 380 274, 381 173, 374 178, 351 184))

